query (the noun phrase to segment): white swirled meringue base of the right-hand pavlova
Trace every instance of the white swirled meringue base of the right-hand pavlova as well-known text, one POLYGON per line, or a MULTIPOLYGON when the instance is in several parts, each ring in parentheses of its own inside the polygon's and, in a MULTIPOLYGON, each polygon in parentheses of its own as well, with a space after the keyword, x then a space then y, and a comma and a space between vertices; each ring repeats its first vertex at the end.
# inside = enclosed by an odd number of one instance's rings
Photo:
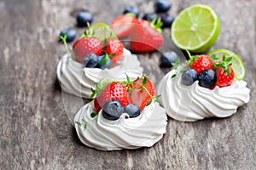
POLYGON ((181 76, 172 78, 170 71, 160 81, 157 93, 166 108, 168 116, 183 121, 194 122, 206 117, 227 117, 236 113, 239 106, 250 99, 247 82, 234 81, 224 88, 202 88, 198 81, 191 86, 181 83, 181 76))

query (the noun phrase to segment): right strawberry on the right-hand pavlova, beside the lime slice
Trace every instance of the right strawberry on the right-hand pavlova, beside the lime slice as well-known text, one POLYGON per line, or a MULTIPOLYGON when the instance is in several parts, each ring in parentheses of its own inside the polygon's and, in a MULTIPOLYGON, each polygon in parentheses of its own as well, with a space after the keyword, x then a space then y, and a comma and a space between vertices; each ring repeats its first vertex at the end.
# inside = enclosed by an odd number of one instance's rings
POLYGON ((216 68, 217 82, 216 86, 219 88, 230 86, 234 79, 234 71, 228 66, 228 71, 225 71, 224 68, 218 66, 216 68))

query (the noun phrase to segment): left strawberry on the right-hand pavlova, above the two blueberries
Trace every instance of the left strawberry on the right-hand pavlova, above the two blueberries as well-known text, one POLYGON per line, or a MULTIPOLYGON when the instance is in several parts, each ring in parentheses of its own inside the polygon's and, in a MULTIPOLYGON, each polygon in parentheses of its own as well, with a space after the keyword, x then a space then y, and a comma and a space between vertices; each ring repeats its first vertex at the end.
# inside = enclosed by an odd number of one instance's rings
POLYGON ((212 69, 213 61, 208 55, 199 55, 196 59, 193 59, 192 65, 189 65, 189 68, 195 69, 197 74, 200 74, 201 71, 212 69))

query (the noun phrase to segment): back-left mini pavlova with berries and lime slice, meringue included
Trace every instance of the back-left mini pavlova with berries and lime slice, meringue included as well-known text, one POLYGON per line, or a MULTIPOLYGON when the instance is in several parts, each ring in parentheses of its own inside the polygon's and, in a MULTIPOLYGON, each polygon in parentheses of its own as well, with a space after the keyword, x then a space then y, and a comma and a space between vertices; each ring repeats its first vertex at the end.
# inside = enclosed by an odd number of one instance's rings
MULTIPOLYGON (((65 42, 65 37, 61 37, 65 42)), ((65 43, 67 48, 67 43, 65 43)), ((124 48, 106 24, 97 23, 73 43, 72 52, 64 54, 56 68, 61 88, 69 94, 90 98, 90 89, 102 78, 127 72, 132 80, 142 76, 137 56, 124 48), (132 74, 129 74, 131 73, 132 74)), ((125 77, 119 77, 120 81, 125 77)))

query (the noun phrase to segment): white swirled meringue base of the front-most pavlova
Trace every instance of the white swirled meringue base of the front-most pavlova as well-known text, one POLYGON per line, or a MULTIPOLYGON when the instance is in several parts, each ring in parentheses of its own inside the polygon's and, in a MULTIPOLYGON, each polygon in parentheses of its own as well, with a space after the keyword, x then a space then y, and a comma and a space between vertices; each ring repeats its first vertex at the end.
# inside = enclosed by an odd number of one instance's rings
POLYGON ((74 122, 87 122, 79 126, 75 123, 79 139, 98 150, 121 150, 150 147, 158 142, 166 133, 166 110, 158 103, 152 103, 144 108, 140 116, 125 119, 123 113, 116 121, 110 121, 99 112, 96 118, 91 118, 93 103, 90 102, 80 109, 74 117, 74 122))

